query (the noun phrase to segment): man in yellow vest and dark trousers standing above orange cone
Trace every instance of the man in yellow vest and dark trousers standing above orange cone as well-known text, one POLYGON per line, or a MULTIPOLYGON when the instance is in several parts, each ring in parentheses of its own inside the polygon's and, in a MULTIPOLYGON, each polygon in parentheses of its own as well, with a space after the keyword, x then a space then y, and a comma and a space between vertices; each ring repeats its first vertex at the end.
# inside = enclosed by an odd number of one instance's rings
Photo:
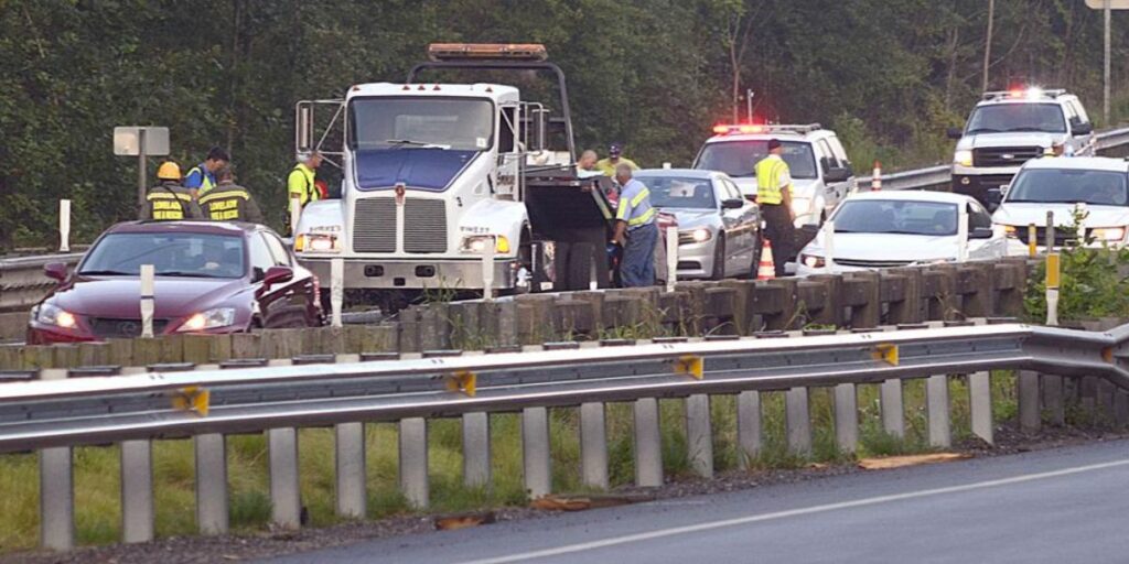
POLYGON ((772 241, 776 275, 784 276, 785 262, 791 259, 796 232, 791 211, 791 173, 780 157, 780 140, 770 139, 769 155, 756 164, 756 205, 764 218, 764 235, 772 241))

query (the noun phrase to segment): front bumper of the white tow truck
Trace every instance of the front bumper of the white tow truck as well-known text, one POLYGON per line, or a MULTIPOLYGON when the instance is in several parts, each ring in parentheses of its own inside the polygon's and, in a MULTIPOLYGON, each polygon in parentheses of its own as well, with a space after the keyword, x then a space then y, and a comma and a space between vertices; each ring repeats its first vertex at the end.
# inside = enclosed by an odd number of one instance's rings
MULTIPOLYGON (((299 257, 298 263, 309 268, 329 289, 330 257, 299 257)), ((497 258, 493 263, 493 288, 514 288, 517 280, 517 259, 497 258)), ((481 258, 426 261, 413 258, 344 258, 344 287, 374 290, 481 290, 483 288, 481 258)))

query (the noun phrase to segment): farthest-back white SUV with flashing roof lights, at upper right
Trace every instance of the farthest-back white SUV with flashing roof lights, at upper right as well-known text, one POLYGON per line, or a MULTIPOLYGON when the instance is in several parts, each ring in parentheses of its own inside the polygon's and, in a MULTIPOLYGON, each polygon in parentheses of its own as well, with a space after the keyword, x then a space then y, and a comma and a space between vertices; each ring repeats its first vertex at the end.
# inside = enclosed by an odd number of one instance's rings
POLYGON ((1012 182, 1027 160, 1062 144, 1067 155, 1093 155, 1093 125, 1082 102, 1066 90, 984 92, 957 139, 953 156, 953 192, 970 195, 989 209, 1000 201, 1000 186, 1012 182))

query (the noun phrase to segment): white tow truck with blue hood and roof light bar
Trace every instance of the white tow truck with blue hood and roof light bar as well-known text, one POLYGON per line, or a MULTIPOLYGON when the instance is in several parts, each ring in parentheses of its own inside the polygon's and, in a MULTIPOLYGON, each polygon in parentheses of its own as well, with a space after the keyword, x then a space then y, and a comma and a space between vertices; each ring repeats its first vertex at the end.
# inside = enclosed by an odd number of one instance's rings
POLYGON ((340 200, 303 210, 294 231, 299 262, 327 281, 331 259, 343 258, 347 301, 375 291, 386 310, 426 290, 607 285, 612 214, 596 185, 607 180, 576 174, 564 76, 544 47, 435 44, 429 58, 404 82, 298 103, 298 153, 335 157, 342 174, 340 200), (514 86, 418 79, 467 70, 555 74, 561 117, 548 120, 549 105, 523 100, 514 86), (315 140, 318 105, 334 117, 315 140), (326 150, 331 132, 339 151, 326 150))

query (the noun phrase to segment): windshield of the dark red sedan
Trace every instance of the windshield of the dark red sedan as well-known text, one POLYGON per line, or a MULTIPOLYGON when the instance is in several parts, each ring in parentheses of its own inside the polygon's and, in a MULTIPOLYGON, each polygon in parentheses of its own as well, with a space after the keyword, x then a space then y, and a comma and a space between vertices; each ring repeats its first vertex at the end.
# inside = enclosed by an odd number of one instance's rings
POLYGON ((243 237, 211 233, 110 233, 82 261, 79 274, 237 279, 244 275, 243 237))

